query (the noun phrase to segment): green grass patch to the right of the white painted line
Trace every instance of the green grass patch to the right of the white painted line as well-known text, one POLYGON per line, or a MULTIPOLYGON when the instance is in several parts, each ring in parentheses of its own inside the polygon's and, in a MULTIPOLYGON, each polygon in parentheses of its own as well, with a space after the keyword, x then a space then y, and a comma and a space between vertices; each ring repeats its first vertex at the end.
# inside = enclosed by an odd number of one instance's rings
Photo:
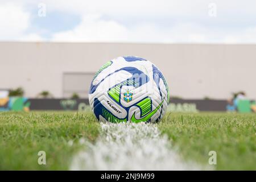
POLYGON ((217 170, 256 170, 256 115, 228 113, 167 114, 159 129, 185 160, 217 170))

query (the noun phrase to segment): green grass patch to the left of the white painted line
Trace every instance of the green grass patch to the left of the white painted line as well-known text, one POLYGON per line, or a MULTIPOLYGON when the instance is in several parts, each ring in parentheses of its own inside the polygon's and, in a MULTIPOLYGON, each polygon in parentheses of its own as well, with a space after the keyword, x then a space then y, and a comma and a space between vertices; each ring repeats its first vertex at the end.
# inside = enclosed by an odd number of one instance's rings
POLYGON ((0 169, 68 169, 79 139, 93 142, 98 127, 91 113, 0 113, 0 169), (47 165, 38 164, 39 151, 47 165))

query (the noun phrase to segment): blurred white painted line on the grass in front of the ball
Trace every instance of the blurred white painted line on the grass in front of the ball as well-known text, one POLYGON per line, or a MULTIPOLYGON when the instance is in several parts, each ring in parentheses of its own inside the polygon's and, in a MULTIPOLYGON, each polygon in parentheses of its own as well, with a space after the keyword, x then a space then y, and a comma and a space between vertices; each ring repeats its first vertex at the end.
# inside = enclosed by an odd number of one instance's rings
POLYGON ((71 170, 197 170, 171 150, 170 141, 155 125, 144 123, 101 123, 96 143, 85 143, 73 160, 71 170))

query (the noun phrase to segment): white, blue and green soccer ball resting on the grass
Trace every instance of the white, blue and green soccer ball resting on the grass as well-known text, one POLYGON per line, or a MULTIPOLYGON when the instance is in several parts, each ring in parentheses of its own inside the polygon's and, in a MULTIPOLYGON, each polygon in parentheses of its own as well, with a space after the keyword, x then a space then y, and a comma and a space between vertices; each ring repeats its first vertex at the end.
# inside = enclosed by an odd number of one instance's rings
POLYGON ((123 56, 108 61, 90 85, 89 103, 99 121, 156 122, 170 99, 163 74, 142 57, 123 56))

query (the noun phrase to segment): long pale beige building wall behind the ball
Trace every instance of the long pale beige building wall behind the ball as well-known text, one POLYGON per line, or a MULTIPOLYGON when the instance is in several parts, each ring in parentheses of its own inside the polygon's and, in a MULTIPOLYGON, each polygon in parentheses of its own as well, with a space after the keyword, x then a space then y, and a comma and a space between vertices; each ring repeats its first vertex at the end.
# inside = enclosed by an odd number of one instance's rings
MULTIPOLYGON (((63 97, 64 72, 96 72, 123 55, 144 57, 166 77, 172 96, 256 99, 256 45, 131 43, 0 43, 0 89, 22 86, 27 97, 63 97)), ((89 85, 89 83, 84 83, 89 85)))

